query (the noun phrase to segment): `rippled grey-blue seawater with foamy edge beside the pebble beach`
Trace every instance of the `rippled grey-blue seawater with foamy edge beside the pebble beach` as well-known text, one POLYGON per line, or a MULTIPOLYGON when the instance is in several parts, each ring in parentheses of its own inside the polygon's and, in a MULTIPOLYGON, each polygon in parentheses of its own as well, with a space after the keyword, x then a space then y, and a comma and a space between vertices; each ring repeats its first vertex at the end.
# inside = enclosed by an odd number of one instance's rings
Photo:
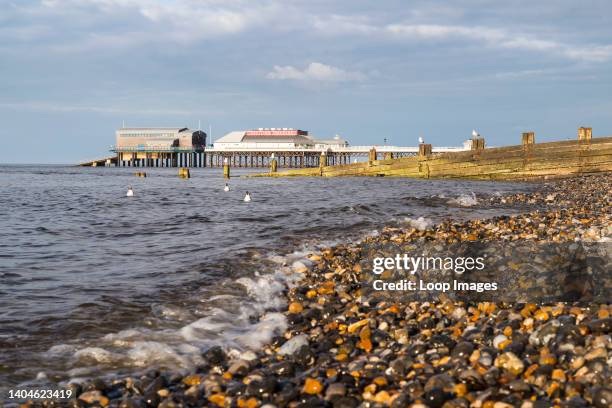
POLYGON ((0 166, 0 388, 189 370, 217 344, 257 350, 286 327, 294 261, 385 225, 506 214, 487 198, 534 188, 234 177, 224 192, 221 173, 0 166))

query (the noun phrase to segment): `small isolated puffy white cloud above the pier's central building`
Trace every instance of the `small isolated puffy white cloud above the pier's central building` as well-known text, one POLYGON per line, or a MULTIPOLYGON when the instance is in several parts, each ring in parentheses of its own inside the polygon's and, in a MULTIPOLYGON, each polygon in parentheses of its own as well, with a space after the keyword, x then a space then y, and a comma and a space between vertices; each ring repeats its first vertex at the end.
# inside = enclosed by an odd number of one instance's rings
POLYGON ((345 71, 320 62, 311 62, 303 70, 291 65, 275 65, 274 69, 268 73, 267 78, 296 81, 348 82, 363 81, 366 79, 366 75, 359 71, 345 71))

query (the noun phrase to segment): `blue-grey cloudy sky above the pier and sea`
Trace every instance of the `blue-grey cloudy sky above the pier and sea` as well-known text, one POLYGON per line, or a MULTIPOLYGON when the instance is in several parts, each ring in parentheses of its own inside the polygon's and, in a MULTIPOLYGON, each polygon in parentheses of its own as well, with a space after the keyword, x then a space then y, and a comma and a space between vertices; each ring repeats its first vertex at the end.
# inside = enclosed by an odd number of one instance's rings
POLYGON ((353 145, 607 136, 611 95, 608 0, 0 0, 0 163, 102 157, 124 122, 353 145))

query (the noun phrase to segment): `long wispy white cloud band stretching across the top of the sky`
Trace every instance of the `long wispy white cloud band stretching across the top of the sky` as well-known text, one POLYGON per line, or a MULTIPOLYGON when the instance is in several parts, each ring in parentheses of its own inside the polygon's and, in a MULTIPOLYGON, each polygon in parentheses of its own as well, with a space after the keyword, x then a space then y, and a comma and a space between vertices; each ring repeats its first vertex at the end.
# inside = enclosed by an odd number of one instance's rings
MULTIPOLYGON (((572 37, 566 36, 567 30, 531 32, 516 25, 492 26, 484 19, 478 25, 469 24, 464 8, 432 6, 428 2, 408 9, 397 13, 346 14, 344 7, 281 0, 41 0, 28 7, 15 3, 10 9, 13 14, 22 12, 29 16, 28 25, 38 27, 19 26, 8 34, 17 41, 47 42, 48 32, 64 26, 71 33, 70 38, 55 36, 50 41, 57 42, 55 49, 78 52, 87 47, 125 48, 168 42, 190 45, 223 36, 257 34, 261 30, 272 35, 283 33, 298 38, 302 35, 306 42, 313 34, 350 37, 352 44, 392 39, 453 41, 576 61, 612 59, 612 44, 582 43, 579 36, 570 43, 566 38, 572 37), (53 24, 48 24, 45 16, 53 24), (117 25, 113 26, 113 22, 117 25)), ((500 10, 507 12, 504 8, 500 10)), ((539 28, 547 23, 554 26, 555 22, 543 22, 539 28)))

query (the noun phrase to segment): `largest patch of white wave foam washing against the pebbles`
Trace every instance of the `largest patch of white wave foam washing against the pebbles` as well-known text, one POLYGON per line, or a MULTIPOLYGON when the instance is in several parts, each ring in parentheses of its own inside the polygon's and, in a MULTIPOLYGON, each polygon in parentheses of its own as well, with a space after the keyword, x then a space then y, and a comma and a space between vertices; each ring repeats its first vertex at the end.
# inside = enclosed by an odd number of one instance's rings
POLYGON ((147 319, 152 325, 109 333, 96 347, 60 344, 48 353, 73 357, 66 369, 72 380, 97 376, 109 368, 116 371, 117 366, 189 369, 201 364, 202 351, 214 345, 223 346, 232 356, 254 359, 253 351, 287 330, 287 320, 279 312, 287 307, 283 293, 303 278, 292 266, 311 267, 307 256, 316 252, 312 247, 317 245, 308 243, 289 255, 268 257, 277 265, 274 273, 256 272, 220 282, 234 287, 229 293, 203 298, 201 308, 156 305, 152 312, 157 319, 147 319))

